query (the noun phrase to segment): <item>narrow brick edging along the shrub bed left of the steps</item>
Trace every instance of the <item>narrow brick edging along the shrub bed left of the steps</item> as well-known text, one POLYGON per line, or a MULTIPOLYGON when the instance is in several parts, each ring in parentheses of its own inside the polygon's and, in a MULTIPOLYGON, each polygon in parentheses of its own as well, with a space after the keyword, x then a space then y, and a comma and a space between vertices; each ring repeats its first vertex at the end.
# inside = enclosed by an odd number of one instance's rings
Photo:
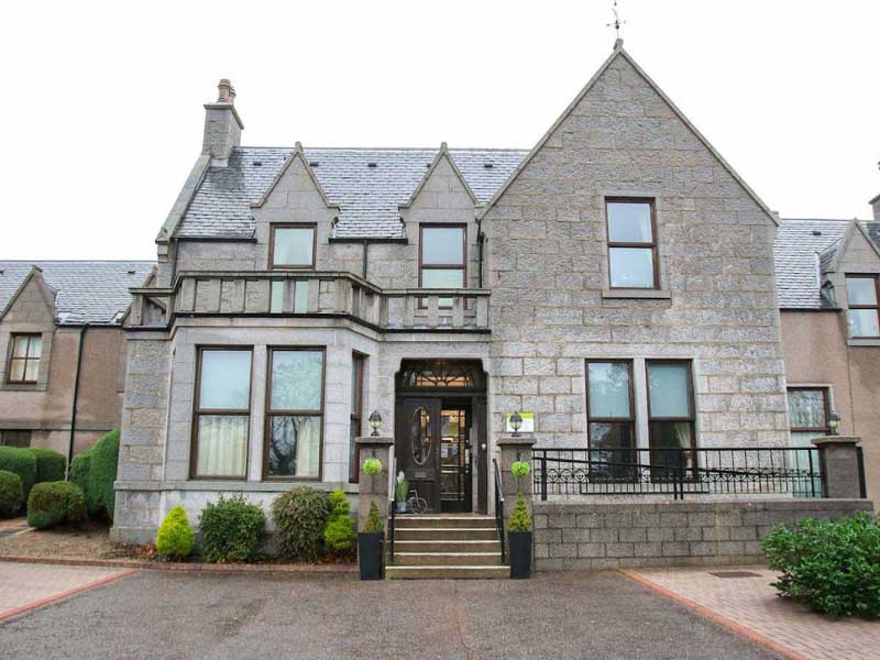
POLYGON ((0 554, 0 562, 44 563, 67 566, 103 566, 176 571, 184 573, 356 573, 356 564, 207 564, 138 561, 134 559, 76 559, 67 557, 20 557, 0 554))

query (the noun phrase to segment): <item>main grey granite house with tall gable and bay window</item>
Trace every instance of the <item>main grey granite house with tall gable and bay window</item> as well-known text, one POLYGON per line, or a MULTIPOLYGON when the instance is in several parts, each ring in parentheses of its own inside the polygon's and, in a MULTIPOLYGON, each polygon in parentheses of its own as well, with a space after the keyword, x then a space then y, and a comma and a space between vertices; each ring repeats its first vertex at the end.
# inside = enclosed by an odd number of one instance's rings
POLYGON ((234 99, 132 289, 117 538, 354 494, 374 410, 437 512, 493 508, 517 410, 550 448, 789 443, 780 221, 620 42, 529 152, 248 147, 234 99))

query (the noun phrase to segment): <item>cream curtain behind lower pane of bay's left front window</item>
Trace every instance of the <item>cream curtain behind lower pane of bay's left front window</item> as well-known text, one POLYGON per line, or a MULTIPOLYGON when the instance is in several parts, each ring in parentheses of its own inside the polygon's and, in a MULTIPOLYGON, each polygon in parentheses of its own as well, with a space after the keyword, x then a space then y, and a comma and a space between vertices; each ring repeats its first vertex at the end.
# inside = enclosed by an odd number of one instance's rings
POLYGON ((248 420, 243 415, 199 416, 199 476, 244 476, 248 420))

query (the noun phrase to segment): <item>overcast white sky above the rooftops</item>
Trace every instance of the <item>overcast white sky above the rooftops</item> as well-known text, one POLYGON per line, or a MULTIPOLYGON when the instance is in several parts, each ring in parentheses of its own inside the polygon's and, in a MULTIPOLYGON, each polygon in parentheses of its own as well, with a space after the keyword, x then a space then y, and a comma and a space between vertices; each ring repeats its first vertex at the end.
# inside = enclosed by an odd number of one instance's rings
MULTIPOLYGON (((620 0, 627 51, 783 217, 870 217, 880 2, 620 0)), ((153 258, 229 77, 249 145, 531 147, 612 0, 6 2, 0 258, 153 258)))

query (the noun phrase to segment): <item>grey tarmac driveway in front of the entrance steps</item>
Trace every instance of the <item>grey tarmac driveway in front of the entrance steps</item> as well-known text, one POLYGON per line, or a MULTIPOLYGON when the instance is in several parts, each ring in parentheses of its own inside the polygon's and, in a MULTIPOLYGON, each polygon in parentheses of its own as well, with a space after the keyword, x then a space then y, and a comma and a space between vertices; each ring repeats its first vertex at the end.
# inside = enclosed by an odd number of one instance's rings
POLYGON ((141 571, 0 624, 3 660, 774 658, 618 573, 528 581, 141 571))

